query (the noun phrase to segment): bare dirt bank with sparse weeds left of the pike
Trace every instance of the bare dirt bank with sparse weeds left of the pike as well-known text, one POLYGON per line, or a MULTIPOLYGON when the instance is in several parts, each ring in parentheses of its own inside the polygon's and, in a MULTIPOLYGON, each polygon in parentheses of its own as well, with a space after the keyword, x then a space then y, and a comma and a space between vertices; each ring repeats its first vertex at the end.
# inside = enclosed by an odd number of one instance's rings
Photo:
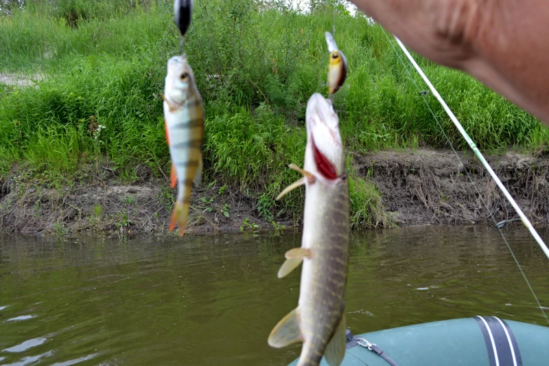
MULTIPOLYGON (((0 180, 0 233, 177 235, 177 228, 172 233, 167 231, 176 189, 170 189, 166 179, 156 179, 142 169, 139 181, 124 184, 114 172, 102 170, 71 187, 54 188, 28 181, 14 168, 10 176, 0 180)), ((246 218, 250 224, 244 225, 246 230, 275 227, 258 216, 252 198, 202 183, 193 187, 185 233, 239 231, 246 218), (224 214, 226 209, 229 217, 224 214), (251 226, 254 224, 257 228, 251 226)), ((282 218, 277 225, 292 222, 282 218)))

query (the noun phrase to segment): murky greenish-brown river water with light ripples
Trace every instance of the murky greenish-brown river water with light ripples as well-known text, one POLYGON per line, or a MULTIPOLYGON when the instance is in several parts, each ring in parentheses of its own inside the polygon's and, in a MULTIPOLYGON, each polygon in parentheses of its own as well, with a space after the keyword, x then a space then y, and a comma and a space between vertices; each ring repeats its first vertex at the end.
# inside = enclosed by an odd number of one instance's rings
MULTIPOLYGON (((549 260, 527 231, 505 232, 549 306, 549 260)), ((297 304, 299 271, 276 273, 300 243, 299 233, 0 237, 0 365, 288 365, 301 345, 274 350, 267 336, 297 304)), ((476 314, 544 324, 498 231, 353 235, 347 325, 355 334, 476 314)))

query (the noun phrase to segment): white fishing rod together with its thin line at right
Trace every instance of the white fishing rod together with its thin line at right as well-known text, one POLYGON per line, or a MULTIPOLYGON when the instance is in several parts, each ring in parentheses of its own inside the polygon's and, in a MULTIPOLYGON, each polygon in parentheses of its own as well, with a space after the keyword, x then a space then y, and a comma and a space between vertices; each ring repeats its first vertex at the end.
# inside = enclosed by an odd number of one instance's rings
MULTIPOLYGON (((431 113, 431 115, 434 117, 435 121, 436 121, 436 124, 439 126, 439 128, 441 129, 446 141, 448 142, 450 148, 452 148, 452 151, 454 152, 454 155, 456 155, 456 157, 458 158, 459 161, 461 161, 459 155, 458 155, 458 152, 456 151, 456 149, 454 148, 454 146, 452 145, 452 142, 449 140, 448 136, 446 135, 446 133, 444 132, 444 129, 442 127, 442 125, 440 124, 439 122, 439 119, 436 117, 434 111, 432 110, 430 104, 428 103, 428 101, 425 99, 425 93, 424 91, 421 91, 421 89, 419 89, 417 83, 415 82, 414 78, 412 78, 412 74, 410 73, 410 71, 408 70, 408 67, 406 66, 406 64, 404 63, 404 61, 402 60, 402 58, 400 57, 399 55, 399 52, 397 52, 397 49, 395 49, 395 46, 393 45, 393 43, 390 41, 389 37, 387 36, 386 32, 383 32, 383 34, 385 35, 385 37, 387 38, 387 41, 388 43, 390 44, 391 47, 393 47, 393 51, 395 51, 395 54, 397 55, 397 57, 399 58, 399 61, 401 62, 402 66, 404 67, 404 69, 406 70, 406 73, 408 73, 408 76, 410 77, 410 80, 412 80, 413 84, 414 84, 414 87, 416 87, 417 91, 420 93, 421 95, 421 98, 423 98, 423 102, 425 102, 425 105, 427 105, 427 107, 429 108, 429 111, 431 113)), ((419 67, 419 65, 417 65, 417 62, 415 62, 415 60, 412 58, 412 56, 410 55, 410 53, 408 52, 408 49, 406 49, 406 47, 401 43, 401 41, 399 40, 399 38, 397 38, 396 36, 395 37, 395 40, 397 41, 397 43, 399 44, 399 46, 401 47, 401 49, 403 50, 404 54, 406 54, 406 56, 408 56, 408 59, 410 60, 410 62, 412 62, 412 65, 414 65, 414 68, 418 71, 419 75, 421 76, 421 78, 423 79, 423 81, 425 81, 426 84, 428 84, 428 87, 431 89, 431 92, 433 93, 433 95, 436 97, 437 100, 439 100, 439 102, 442 104, 442 106, 444 107, 446 113, 449 115, 450 119, 452 119, 452 122, 454 122, 454 124, 456 125, 456 127, 458 127, 458 130, 460 130, 460 133, 462 133, 463 137, 465 137, 465 140, 467 141, 467 143, 469 144, 469 146, 474 150, 475 152, 475 155, 480 159, 482 165, 484 165, 484 168, 486 168, 489 172, 490 172, 490 175, 492 176, 492 178, 496 181, 496 183, 499 182, 498 186, 500 187, 500 189, 504 192, 505 196, 507 197, 509 195, 509 201, 511 201, 511 205, 513 205, 513 203, 515 203, 515 201, 513 200, 513 197, 511 197, 511 194, 509 194, 509 192, 507 192, 507 190, 505 189, 505 187, 503 186, 503 184, 501 183, 500 179, 498 178, 497 175, 495 175, 495 172, 493 172, 493 170, 490 168, 490 165, 487 163, 487 161, 484 159, 484 157, 482 156, 482 154, 480 153, 480 151, 478 150, 478 148, 476 147, 476 144, 474 144, 474 141, 471 139, 471 137, 469 137, 469 135, 467 135, 467 133, 465 132, 465 130, 463 129, 463 127, 461 126, 461 124, 458 122, 458 119, 456 118, 456 116, 454 115, 454 113, 452 113, 452 111, 449 109, 449 107, 447 106, 447 104, 444 102, 444 100, 442 99, 441 95, 439 94, 438 91, 436 91, 436 89, 434 89, 434 86, 431 84, 431 82, 429 81, 429 79, 427 78, 427 76, 425 76, 425 73, 423 73, 423 71, 421 71, 421 68, 419 67), (463 132, 462 132, 463 131, 463 132), (485 163, 485 164, 484 164, 485 163)), ((536 303, 537 303, 537 306, 539 307, 539 310, 541 311, 541 314, 543 315, 543 317, 546 319, 547 323, 549 323, 549 318, 547 317, 547 314, 544 310, 544 307, 541 306, 540 302, 539 302, 539 299, 537 297, 537 295, 535 294, 535 291, 533 289, 533 287, 530 285, 530 282, 528 281, 528 278, 526 277, 526 273, 524 273, 523 269, 522 269, 522 266, 519 264, 519 261, 517 260, 517 257, 515 256, 515 253, 513 252, 513 249, 511 249, 511 245, 509 244, 509 242, 507 241, 507 239, 505 238, 504 236, 504 233, 503 231, 501 230, 501 227, 500 223, 496 222, 495 220, 495 217, 493 216, 493 214, 491 213, 490 209, 488 208, 488 205, 487 203, 484 201, 484 198, 482 198, 482 194, 480 194, 480 191, 478 190, 478 187, 476 186, 476 184, 474 183, 473 179, 471 178, 471 175, 469 174, 469 171, 465 168, 465 164, 463 164, 463 161, 461 162, 462 165, 463 165, 463 170, 465 170, 465 173, 467 173, 467 177, 469 178, 469 181, 471 181, 471 183, 473 184, 473 187, 475 188, 476 192, 478 193, 478 196, 480 198, 480 201, 482 201, 482 204, 484 205, 484 207, 486 208, 486 210, 488 211, 488 214, 491 216, 493 222, 495 223, 498 231, 500 231, 500 234, 502 236, 502 239, 503 241, 505 242, 506 246, 507 246, 507 249, 509 249, 509 252, 511 253, 511 256, 513 257, 513 260, 515 260, 515 263, 517 264, 518 268, 519 268, 519 271, 520 273, 522 274, 522 277, 524 278, 524 281, 526 282, 526 284, 528 285, 528 288, 530 289, 530 293, 532 293, 536 303)), ((515 205, 513 205, 513 208, 515 208, 515 211, 517 211, 517 213, 519 213, 519 216, 521 216, 522 214, 522 211, 520 210, 520 208, 517 206, 517 204, 515 203, 515 205), (516 206, 516 208, 515 208, 516 206)), ((528 225, 525 224, 525 226, 528 227, 528 229, 530 229, 530 227, 532 228, 533 230, 533 236, 534 238, 536 239, 536 236, 537 238, 539 238, 539 236, 537 235, 537 232, 535 231, 535 229, 532 227, 532 224, 530 223, 530 221, 528 221, 528 218, 526 218, 526 216, 524 216, 524 214, 522 214, 520 220, 522 220, 522 222, 524 223, 524 220, 526 220, 526 222, 528 222, 528 225), (524 217, 524 218, 523 218, 524 217), (535 233, 535 235, 534 235, 535 233)), ((532 233, 532 230, 530 230, 530 233, 532 233)), ((546 253, 546 255, 548 256, 549 258, 549 249, 546 247, 545 243, 543 242, 543 240, 541 240, 541 238, 539 238, 539 241, 536 239, 536 241, 538 242, 538 244, 540 245, 541 249, 544 250, 544 253, 546 253)))

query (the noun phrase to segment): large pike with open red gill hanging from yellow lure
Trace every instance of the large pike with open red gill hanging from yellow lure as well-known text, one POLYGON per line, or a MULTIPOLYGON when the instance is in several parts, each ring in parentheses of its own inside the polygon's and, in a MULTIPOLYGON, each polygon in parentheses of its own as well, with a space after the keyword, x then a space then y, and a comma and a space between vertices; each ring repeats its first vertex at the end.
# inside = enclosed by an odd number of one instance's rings
POLYGON ((303 262, 299 304, 273 328, 271 347, 303 342, 298 366, 318 366, 323 355, 331 366, 345 354, 344 295, 349 266, 349 182, 339 119, 331 100, 314 93, 305 115, 307 146, 303 177, 279 194, 305 185, 301 248, 285 253, 278 277, 303 262))

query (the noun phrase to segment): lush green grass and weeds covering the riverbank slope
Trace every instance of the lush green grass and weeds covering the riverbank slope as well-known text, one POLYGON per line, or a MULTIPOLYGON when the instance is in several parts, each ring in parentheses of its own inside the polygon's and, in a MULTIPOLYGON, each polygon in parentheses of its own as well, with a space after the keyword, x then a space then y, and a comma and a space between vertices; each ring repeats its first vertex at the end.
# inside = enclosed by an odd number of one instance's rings
MULTIPOLYGON (((302 191, 281 203, 272 198, 298 178, 287 165, 303 161, 307 99, 326 95, 324 32, 334 12, 266 10, 253 0, 195 3, 185 52, 205 100, 205 181, 256 198, 268 219, 301 209, 302 191)), ((342 10, 335 26, 349 60, 335 98, 349 150, 447 148, 414 87, 423 85, 419 76, 410 71, 410 78, 384 31, 342 10)), ((137 178, 139 165, 167 174, 159 94, 178 49, 171 1, 28 1, 0 16, 0 45, 0 72, 40 76, 36 87, 0 84, 0 174, 14 163, 56 184, 70 184, 90 163, 108 163, 125 181, 137 178), (106 126, 99 135, 98 125, 106 126)), ((536 119, 479 82, 419 63, 480 148, 538 149, 548 141, 536 119)), ((452 144, 465 148, 427 99, 452 144)), ((375 225, 382 220, 377 190, 352 170, 351 178, 353 223, 375 225)))

